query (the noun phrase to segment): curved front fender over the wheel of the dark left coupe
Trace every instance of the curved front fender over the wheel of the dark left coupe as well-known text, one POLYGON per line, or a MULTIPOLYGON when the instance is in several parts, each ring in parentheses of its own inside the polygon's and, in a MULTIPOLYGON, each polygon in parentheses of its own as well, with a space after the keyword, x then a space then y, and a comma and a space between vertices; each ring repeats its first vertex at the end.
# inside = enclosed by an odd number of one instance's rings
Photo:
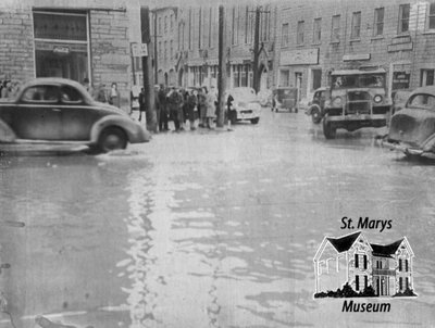
POLYGON ((151 135, 128 116, 108 115, 94 124, 90 131, 90 142, 97 143, 101 131, 109 126, 122 128, 126 133, 128 141, 132 143, 145 142, 151 139, 151 135))

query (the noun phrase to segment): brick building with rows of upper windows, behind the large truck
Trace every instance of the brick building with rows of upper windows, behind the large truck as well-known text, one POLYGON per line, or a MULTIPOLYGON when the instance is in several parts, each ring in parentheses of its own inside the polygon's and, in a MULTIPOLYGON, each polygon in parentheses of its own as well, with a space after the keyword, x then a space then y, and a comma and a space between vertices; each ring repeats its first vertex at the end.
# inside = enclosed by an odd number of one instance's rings
POLYGON ((301 97, 361 66, 385 68, 389 91, 434 85, 433 0, 294 0, 278 12, 276 80, 301 97))

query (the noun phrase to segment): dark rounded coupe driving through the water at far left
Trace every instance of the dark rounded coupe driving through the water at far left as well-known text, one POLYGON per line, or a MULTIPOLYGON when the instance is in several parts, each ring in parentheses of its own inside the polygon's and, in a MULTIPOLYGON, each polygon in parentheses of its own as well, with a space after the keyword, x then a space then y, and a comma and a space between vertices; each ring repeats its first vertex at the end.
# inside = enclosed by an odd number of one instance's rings
POLYGON ((70 79, 37 78, 0 102, 0 143, 80 143, 108 152, 150 139, 127 113, 70 79))

